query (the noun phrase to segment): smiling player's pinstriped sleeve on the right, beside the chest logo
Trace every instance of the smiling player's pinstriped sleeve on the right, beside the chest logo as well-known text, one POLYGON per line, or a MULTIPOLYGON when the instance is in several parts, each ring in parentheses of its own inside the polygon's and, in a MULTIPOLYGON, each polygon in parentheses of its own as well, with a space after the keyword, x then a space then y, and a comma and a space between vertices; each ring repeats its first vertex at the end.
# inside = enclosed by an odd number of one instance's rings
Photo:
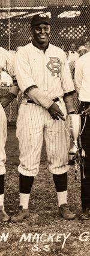
POLYGON ((64 91, 64 94, 75 90, 71 73, 70 73, 70 68, 68 66, 68 62, 65 54, 62 62, 62 67, 61 67, 61 83, 62 83, 62 89, 64 91))

